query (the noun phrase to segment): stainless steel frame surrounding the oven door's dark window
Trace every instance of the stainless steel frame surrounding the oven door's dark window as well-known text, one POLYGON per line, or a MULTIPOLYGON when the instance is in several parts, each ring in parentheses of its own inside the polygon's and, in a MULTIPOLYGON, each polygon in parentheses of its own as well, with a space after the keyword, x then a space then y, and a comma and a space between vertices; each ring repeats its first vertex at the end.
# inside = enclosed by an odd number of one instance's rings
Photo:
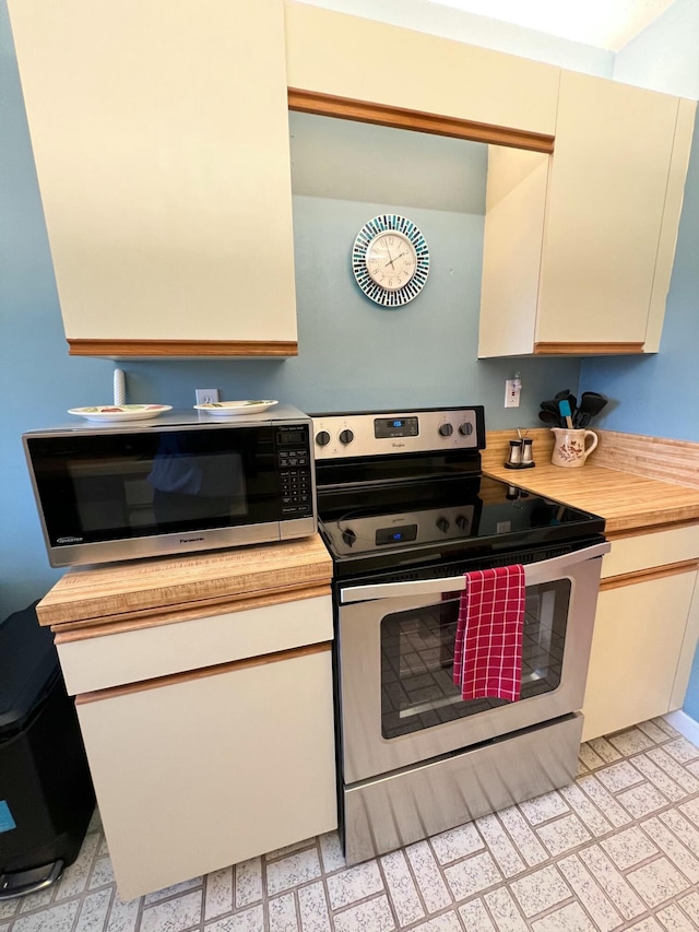
POLYGON ((431 581, 427 594, 413 592, 402 597, 395 590, 404 583, 395 583, 389 587, 392 590, 390 597, 341 605, 337 610, 337 647, 345 783, 414 766, 579 710, 584 699, 602 570, 599 556, 585 558, 584 554, 585 551, 571 554, 576 563, 572 566, 568 563, 564 569, 558 558, 535 565, 541 571, 536 573, 536 583, 533 585, 570 580, 570 602, 564 606, 568 626, 562 673, 556 689, 391 740, 382 738, 378 728, 381 720, 381 620, 388 614, 410 612, 439 602, 442 593, 457 591, 454 581, 436 580, 436 588, 431 581))

